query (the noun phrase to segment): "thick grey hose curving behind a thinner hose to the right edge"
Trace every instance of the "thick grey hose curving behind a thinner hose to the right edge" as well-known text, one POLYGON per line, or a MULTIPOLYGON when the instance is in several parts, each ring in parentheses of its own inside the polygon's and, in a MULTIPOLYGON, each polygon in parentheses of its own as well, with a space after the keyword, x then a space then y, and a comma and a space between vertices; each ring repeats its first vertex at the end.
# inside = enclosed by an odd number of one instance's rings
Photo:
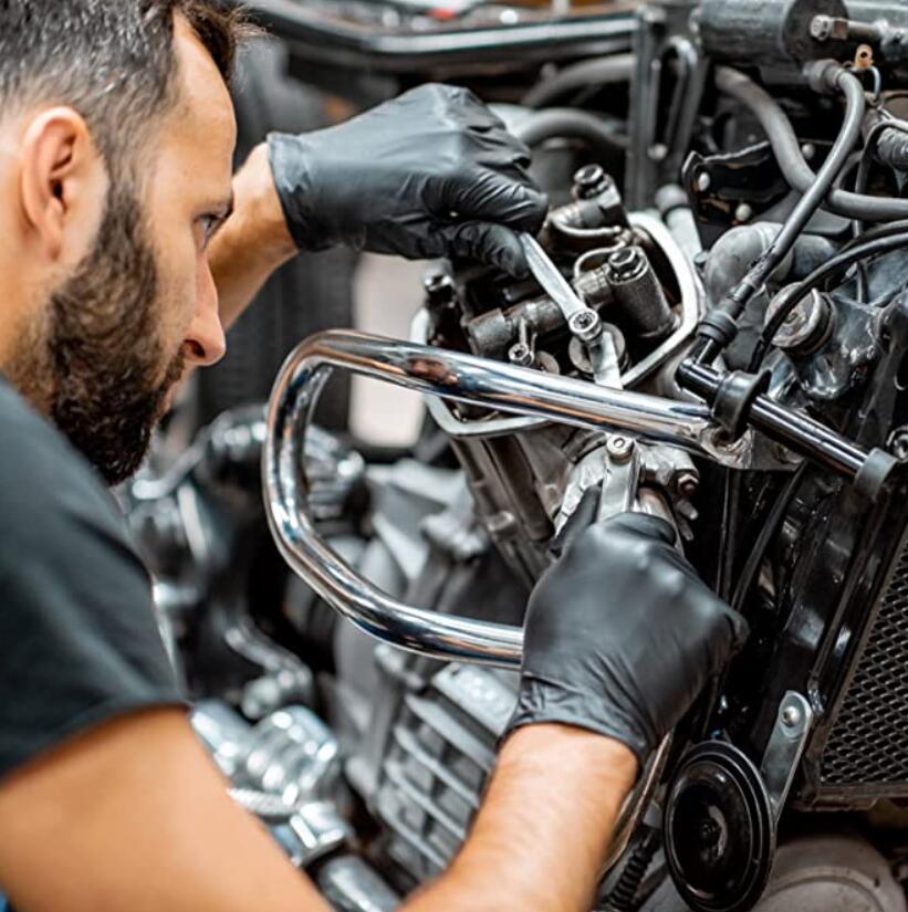
MULTIPOLYGON (((753 113, 769 137, 785 180, 795 190, 807 192, 816 175, 804 160, 794 127, 775 99, 753 80, 728 66, 717 69, 716 85, 753 113)), ((849 193, 846 190, 831 190, 825 208, 847 219, 868 222, 908 218, 908 200, 849 193)))

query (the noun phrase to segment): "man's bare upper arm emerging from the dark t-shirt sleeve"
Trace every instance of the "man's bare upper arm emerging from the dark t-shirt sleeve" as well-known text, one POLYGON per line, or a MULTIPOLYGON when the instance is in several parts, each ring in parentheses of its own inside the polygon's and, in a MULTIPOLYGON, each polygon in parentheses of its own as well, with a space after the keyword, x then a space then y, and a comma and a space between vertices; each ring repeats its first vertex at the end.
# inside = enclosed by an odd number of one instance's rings
POLYGON ((0 892, 19 912, 327 912, 184 712, 111 721, 0 784, 0 892))

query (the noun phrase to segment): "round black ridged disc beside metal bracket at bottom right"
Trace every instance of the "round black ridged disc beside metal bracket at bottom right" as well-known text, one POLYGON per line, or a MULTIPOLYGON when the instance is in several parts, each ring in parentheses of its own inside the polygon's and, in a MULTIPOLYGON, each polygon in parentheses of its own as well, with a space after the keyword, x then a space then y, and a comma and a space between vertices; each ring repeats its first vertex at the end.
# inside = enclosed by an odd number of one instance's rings
POLYGON ((720 741, 680 762, 666 800, 665 852, 675 887, 695 912, 747 912, 766 885, 775 824, 756 767, 720 741))

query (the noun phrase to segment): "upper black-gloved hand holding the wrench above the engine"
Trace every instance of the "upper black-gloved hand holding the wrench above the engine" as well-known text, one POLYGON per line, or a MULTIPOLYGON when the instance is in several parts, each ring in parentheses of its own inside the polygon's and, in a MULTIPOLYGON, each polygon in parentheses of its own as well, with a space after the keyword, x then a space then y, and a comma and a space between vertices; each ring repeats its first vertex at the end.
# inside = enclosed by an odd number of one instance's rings
POLYGON ((463 88, 424 85, 338 126, 272 134, 269 153, 301 250, 467 258, 520 276, 514 232, 546 214, 529 149, 463 88))

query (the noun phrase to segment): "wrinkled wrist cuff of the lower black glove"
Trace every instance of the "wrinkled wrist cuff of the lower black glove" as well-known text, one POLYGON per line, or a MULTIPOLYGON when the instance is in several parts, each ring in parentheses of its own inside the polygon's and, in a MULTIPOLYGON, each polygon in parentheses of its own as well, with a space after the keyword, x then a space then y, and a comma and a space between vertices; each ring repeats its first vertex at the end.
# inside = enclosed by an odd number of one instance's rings
POLYGON ((524 672, 516 707, 501 741, 516 728, 541 723, 573 725, 619 741, 634 752, 641 769, 656 742, 602 694, 571 691, 524 672))

